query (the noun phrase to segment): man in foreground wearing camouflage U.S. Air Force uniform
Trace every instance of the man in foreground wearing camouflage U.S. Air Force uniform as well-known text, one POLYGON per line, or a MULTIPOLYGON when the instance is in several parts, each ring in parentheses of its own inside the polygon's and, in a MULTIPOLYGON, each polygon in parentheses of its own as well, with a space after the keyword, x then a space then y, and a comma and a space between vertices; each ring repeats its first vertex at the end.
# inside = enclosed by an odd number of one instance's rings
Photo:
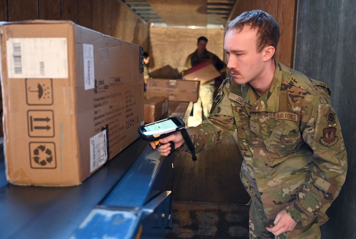
POLYGON ((279 38, 278 23, 264 11, 230 21, 229 75, 210 116, 187 129, 187 142, 181 132, 160 139, 158 151, 168 155, 172 141, 176 152, 190 143, 199 152, 237 130, 250 238, 321 238, 325 212, 345 182, 347 154, 328 85, 279 63, 279 38))

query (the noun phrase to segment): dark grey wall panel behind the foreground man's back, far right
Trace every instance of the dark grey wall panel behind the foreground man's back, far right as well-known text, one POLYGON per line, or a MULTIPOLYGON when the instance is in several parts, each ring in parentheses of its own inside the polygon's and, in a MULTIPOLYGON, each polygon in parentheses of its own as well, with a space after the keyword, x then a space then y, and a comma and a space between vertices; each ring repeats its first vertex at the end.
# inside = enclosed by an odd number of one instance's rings
POLYGON ((326 82, 338 114, 348 155, 348 174, 322 226, 322 238, 356 235, 356 2, 298 1, 294 68, 326 82))

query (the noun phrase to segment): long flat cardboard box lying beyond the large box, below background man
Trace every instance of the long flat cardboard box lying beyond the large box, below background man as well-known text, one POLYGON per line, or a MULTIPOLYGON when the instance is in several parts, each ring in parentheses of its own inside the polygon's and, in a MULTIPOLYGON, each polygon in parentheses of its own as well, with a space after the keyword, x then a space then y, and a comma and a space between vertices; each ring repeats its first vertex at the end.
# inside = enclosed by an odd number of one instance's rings
POLYGON ((147 80, 147 99, 154 96, 166 96, 170 101, 197 102, 200 81, 181 79, 147 80))

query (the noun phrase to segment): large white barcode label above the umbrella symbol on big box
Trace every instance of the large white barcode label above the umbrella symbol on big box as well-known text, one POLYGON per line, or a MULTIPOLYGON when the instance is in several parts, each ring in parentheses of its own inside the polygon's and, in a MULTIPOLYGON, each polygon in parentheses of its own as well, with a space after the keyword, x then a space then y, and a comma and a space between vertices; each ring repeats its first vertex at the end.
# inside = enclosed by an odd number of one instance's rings
POLYGON ((68 78, 67 38, 9 38, 9 78, 68 78))

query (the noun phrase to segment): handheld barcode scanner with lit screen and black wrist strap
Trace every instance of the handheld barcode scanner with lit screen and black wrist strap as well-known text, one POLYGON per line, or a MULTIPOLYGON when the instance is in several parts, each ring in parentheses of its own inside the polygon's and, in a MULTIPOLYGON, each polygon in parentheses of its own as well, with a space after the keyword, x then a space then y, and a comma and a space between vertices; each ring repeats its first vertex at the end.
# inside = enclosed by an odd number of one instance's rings
MULTIPOLYGON (((144 140, 155 141, 157 147, 160 146, 160 142, 158 141, 158 139, 165 138, 168 135, 178 131, 182 131, 183 138, 186 141, 188 148, 192 153, 193 160, 195 161, 196 160, 195 148, 185 129, 185 123, 182 121, 181 118, 176 116, 171 116, 169 118, 161 119, 160 121, 156 121, 146 125, 141 125, 140 127, 138 127, 138 133, 140 134, 140 136, 144 140)), ((171 148, 170 154, 172 154, 174 151, 174 143, 173 142, 169 142, 169 143, 171 148)))

